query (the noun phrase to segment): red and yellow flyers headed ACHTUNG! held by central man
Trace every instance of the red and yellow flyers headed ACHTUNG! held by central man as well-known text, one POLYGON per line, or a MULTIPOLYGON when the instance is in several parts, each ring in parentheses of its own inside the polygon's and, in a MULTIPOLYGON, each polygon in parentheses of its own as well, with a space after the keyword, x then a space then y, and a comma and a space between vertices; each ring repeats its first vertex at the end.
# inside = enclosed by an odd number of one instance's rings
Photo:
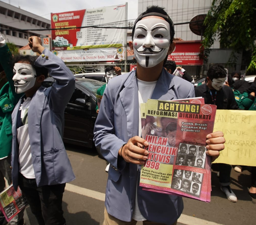
POLYGON ((142 138, 149 143, 143 189, 210 202, 211 157, 205 146, 216 109, 203 98, 148 99, 140 105, 142 138))

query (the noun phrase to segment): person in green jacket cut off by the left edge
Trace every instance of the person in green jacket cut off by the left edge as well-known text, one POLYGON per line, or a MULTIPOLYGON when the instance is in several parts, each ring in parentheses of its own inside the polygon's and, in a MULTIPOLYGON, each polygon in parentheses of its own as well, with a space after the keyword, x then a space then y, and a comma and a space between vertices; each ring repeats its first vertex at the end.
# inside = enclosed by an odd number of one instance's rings
MULTIPOLYGON (((5 188, 4 178, 9 185, 12 183, 12 111, 22 96, 22 94, 16 94, 14 90, 11 59, 10 49, 0 34, 0 192, 5 188)), ((1 213, 0 225, 6 223, 1 213)), ((23 212, 19 215, 19 219, 15 217, 11 224, 23 224, 23 212)))

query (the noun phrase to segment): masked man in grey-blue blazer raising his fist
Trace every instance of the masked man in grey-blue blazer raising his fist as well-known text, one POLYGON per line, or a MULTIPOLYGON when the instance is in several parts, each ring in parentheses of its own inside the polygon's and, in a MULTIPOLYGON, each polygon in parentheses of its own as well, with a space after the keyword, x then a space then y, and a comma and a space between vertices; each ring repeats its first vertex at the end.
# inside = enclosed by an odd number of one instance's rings
POLYGON ((13 59, 15 92, 24 95, 12 113, 12 183, 15 190, 20 187, 38 224, 65 225, 62 197, 66 182, 75 175, 62 135, 75 77, 59 57, 42 46, 40 38, 29 37, 29 46, 40 56, 13 59), (42 83, 48 73, 55 82, 45 88, 42 83))

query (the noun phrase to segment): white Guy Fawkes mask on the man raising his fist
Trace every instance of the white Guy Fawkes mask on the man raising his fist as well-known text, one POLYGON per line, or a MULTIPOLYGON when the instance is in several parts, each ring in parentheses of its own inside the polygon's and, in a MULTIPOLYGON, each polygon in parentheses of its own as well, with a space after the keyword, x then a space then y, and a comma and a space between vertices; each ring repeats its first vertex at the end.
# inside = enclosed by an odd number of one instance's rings
POLYGON ((13 81, 15 92, 24 93, 34 87, 36 82, 36 70, 28 63, 15 63, 13 67, 13 81))

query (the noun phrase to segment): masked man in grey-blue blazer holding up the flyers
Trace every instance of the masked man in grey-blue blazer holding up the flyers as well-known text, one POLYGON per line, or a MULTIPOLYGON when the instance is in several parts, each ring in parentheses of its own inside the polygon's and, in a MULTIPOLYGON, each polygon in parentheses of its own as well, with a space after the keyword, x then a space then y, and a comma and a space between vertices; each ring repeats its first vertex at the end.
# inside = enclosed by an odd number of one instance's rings
MULTIPOLYGON (((101 100, 94 126, 94 143, 111 164, 106 188, 105 220, 103 224, 176 224, 182 210, 182 198, 142 190, 141 165, 148 157, 148 146, 141 138, 140 103, 152 99, 194 97, 194 85, 173 76, 164 68, 172 53, 174 26, 163 8, 150 6, 134 22, 133 41, 129 43, 137 60, 137 69, 110 79, 101 100), (167 206, 167 207, 166 207, 167 206), (156 210, 157 209, 157 210, 156 210), (160 213, 159 213, 160 212, 160 213), (131 223, 132 221, 132 223, 131 223)), ((211 134, 218 151, 208 151, 218 157, 223 149, 223 133, 211 134)), ((210 145, 212 146, 212 145, 210 145)), ((214 149, 214 148, 213 148, 214 149)))

